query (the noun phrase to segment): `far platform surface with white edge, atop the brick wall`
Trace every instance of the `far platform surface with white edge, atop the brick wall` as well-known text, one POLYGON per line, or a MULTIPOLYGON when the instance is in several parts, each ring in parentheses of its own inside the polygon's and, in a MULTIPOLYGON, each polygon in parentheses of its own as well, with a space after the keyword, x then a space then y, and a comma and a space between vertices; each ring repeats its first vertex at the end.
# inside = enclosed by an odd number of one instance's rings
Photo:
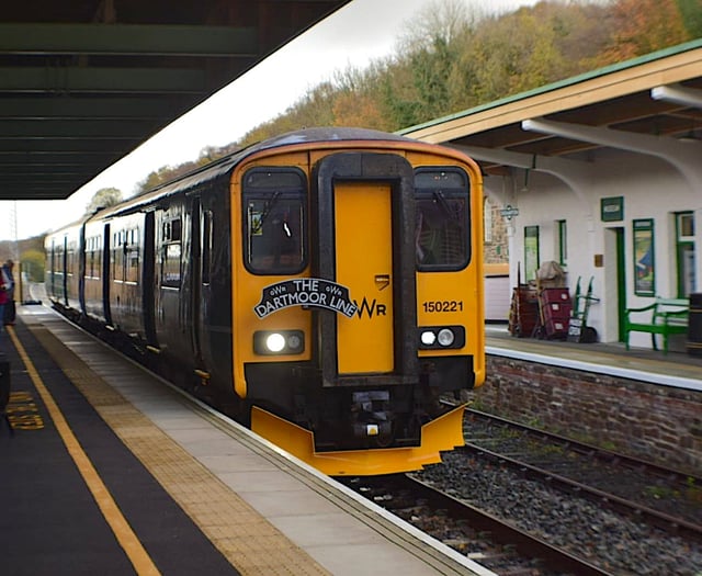
POLYGON ((624 343, 579 343, 511 336, 506 325, 486 326, 486 353, 596 374, 608 374, 702 392, 702 357, 678 350, 630 348, 624 343))

